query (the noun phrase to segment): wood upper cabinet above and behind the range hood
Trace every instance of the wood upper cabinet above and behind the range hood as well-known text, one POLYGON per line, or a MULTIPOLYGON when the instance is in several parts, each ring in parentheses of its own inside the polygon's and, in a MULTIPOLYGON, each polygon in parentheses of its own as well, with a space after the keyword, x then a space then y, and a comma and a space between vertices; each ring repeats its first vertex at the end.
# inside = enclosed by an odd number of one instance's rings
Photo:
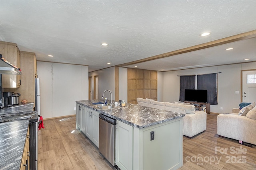
MULTIPOLYGON (((20 50, 17 44, 0 41, 0 54, 10 63, 20 67, 20 50)), ((20 75, 2 74, 2 87, 20 87, 20 75)))

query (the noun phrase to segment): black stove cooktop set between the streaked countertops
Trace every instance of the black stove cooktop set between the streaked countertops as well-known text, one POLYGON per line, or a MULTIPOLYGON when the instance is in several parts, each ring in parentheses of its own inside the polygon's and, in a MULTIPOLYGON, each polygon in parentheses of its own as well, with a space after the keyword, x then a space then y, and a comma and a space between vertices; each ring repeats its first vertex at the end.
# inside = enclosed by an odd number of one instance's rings
POLYGON ((7 113, 7 114, 0 115, 0 123, 9 122, 9 121, 27 120, 27 119, 30 119, 30 121, 37 121, 37 112, 24 111, 24 112, 7 113))

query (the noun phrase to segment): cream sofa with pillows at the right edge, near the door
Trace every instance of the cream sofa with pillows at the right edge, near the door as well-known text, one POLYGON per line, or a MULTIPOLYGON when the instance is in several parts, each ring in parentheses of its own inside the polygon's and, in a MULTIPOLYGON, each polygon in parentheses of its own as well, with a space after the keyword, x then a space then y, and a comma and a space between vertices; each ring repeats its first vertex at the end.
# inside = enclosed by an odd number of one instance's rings
POLYGON ((243 107, 234 108, 230 114, 217 116, 217 134, 220 137, 236 139, 256 145, 256 106, 255 102, 243 107))

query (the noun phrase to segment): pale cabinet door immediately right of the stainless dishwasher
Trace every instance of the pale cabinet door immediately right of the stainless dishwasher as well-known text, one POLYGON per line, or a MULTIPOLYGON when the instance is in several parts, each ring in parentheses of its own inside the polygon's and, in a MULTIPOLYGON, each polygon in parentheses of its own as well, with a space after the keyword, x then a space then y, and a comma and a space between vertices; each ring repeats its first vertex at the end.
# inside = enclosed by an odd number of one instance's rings
POLYGON ((117 121, 116 127, 116 165, 122 170, 131 170, 133 127, 121 121, 117 121))

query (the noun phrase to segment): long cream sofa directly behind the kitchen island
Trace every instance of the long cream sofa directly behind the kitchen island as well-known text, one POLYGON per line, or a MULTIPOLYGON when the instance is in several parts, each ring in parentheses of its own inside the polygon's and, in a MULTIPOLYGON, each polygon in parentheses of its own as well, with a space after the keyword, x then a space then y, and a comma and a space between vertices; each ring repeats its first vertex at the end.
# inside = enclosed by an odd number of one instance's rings
POLYGON ((138 105, 186 114, 183 117, 183 135, 194 137, 206 130, 206 112, 195 111, 195 106, 183 103, 157 102, 152 99, 137 98, 138 105))

